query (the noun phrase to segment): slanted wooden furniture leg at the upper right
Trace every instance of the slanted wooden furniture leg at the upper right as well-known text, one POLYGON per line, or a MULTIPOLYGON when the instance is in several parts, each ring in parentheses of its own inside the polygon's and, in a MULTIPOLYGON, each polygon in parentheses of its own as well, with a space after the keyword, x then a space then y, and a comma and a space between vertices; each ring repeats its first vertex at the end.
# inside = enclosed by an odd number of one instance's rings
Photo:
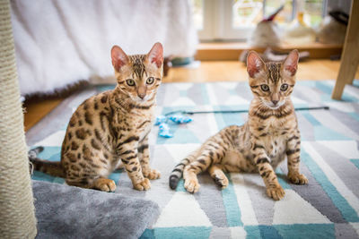
POLYGON ((331 98, 340 100, 346 84, 353 83, 355 73, 359 64, 359 0, 352 0, 349 24, 346 29, 346 42, 339 73, 337 74, 336 86, 331 98))

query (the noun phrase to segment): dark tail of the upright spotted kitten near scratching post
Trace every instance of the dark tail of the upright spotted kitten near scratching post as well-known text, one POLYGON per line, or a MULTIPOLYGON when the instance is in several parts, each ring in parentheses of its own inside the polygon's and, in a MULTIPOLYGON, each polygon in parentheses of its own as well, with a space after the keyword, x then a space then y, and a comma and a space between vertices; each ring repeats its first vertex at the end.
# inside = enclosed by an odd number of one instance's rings
POLYGON ((30 171, 32 172, 33 170, 36 170, 52 176, 65 177, 65 171, 61 165, 61 162, 53 162, 38 158, 39 152, 41 152, 43 149, 43 147, 38 147, 31 149, 28 152, 29 160, 31 162, 30 171))

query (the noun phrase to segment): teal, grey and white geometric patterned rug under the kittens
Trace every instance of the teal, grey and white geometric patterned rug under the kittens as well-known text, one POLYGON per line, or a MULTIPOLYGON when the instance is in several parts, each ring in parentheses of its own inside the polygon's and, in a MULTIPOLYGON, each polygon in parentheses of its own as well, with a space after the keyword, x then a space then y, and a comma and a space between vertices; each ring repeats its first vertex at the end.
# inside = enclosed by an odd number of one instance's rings
MULTIPOLYGON (((110 175, 116 193, 158 203, 162 213, 141 238, 359 238, 359 81, 346 86, 343 100, 330 98, 335 81, 298 81, 294 107, 328 106, 329 110, 297 111, 302 133, 301 171, 308 185, 286 180, 286 162, 276 169, 285 189, 282 201, 269 199, 257 174, 229 174, 219 189, 209 175, 198 175, 201 188, 190 194, 183 180, 169 188, 171 169, 209 136, 230 124, 243 124, 247 113, 190 115, 189 124, 171 124, 173 138, 150 134, 151 165, 162 172, 151 190, 132 188, 126 172, 110 175)), ((28 145, 42 145, 39 158, 57 161, 66 124, 74 109, 93 94, 113 85, 79 91, 26 134, 28 145)), ((174 110, 248 109, 248 82, 167 83, 157 96, 157 113, 174 110)), ((64 184, 62 178, 34 172, 33 179, 64 184)))

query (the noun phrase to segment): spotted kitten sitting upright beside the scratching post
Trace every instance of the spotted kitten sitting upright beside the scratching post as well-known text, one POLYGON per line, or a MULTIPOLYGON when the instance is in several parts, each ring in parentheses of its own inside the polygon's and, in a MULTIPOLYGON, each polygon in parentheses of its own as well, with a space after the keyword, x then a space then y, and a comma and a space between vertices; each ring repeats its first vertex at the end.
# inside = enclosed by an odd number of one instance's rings
POLYGON ((32 158, 35 170, 66 178, 66 184, 113 192, 108 175, 121 164, 136 190, 160 173, 149 166, 148 134, 155 97, 162 81, 163 49, 156 43, 147 55, 111 49, 117 86, 86 99, 67 126, 61 162, 32 158))

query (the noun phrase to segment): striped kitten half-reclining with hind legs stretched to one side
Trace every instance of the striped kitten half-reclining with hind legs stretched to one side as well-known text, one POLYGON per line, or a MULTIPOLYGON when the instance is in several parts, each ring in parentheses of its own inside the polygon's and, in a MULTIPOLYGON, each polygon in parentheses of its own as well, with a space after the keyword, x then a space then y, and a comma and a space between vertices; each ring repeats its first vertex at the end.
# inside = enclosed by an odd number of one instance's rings
POLYGON ((258 172, 274 200, 285 196, 274 169, 288 158, 288 178, 293 184, 307 184, 299 173, 301 138, 293 103, 289 98, 295 84, 298 51, 293 50, 283 63, 267 63, 255 52, 247 58, 250 89, 254 98, 248 121, 224 128, 209 138, 200 149, 184 158, 172 171, 170 187, 175 189, 183 173, 185 188, 197 192, 197 174, 208 169, 215 183, 225 188, 223 172, 258 172))

